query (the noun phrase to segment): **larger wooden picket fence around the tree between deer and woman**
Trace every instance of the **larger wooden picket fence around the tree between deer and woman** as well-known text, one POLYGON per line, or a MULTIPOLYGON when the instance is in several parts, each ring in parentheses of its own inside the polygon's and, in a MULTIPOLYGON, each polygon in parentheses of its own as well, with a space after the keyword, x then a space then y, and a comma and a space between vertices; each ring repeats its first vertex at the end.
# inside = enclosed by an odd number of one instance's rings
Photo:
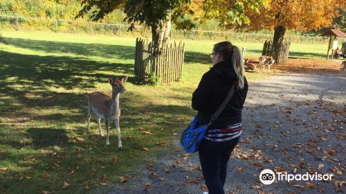
POLYGON ((154 48, 147 39, 136 39, 134 73, 137 78, 149 82, 155 76, 156 82, 169 83, 179 79, 183 73, 185 44, 176 42, 154 48))

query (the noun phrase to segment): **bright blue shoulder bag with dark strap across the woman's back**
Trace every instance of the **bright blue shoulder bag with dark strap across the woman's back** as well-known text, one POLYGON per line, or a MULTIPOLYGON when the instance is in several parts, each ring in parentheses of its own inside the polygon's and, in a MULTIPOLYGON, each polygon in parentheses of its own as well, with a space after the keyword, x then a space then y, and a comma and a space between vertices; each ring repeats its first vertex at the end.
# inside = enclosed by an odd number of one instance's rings
POLYGON ((222 103, 217 111, 212 115, 212 118, 210 118, 208 124, 199 125, 197 119, 198 116, 194 116, 194 119, 191 121, 190 125, 188 125, 188 127, 181 134, 180 144, 185 152, 193 153, 198 151, 199 143, 201 143, 201 141, 203 140, 204 135, 206 134, 206 130, 212 124, 212 122, 217 120, 217 117, 220 116, 221 112, 230 101, 230 98, 232 98, 234 92, 235 85, 230 88, 230 91, 228 92, 228 96, 224 100, 224 103, 222 103))

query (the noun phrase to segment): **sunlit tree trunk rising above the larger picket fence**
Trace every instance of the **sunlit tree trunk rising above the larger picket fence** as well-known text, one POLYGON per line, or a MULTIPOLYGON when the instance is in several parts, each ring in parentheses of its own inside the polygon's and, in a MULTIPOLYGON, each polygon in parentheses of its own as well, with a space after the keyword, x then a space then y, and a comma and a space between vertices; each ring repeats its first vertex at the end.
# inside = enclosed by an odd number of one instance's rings
POLYGON ((162 48, 170 44, 171 12, 168 13, 165 20, 160 21, 159 24, 153 24, 151 27, 154 48, 162 48))

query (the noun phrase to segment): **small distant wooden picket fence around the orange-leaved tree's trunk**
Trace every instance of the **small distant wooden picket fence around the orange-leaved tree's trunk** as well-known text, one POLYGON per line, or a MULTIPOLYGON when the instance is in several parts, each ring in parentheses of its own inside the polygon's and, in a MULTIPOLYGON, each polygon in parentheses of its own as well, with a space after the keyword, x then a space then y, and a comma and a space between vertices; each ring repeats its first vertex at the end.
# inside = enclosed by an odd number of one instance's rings
POLYGON ((273 42, 266 40, 263 45, 262 55, 271 56, 275 62, 282 63, 289 59, 289 46, 291 42, 282 42, 275 48, 273 42))

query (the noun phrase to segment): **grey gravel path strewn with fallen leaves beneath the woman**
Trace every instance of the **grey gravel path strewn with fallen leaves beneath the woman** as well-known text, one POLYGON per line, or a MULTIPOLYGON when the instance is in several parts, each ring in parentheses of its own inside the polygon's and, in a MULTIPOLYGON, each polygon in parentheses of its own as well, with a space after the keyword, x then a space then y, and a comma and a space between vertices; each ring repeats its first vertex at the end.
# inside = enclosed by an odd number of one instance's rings
MULTIPOLYGON (((343 76, 292 73, 249 83, 244 131, 228 163, 226 193, 345 192, 345 184, 335 186, 346 181, 345 91, 343 76), (264 185, 259 175, 266 168, 335 177, 264 185)), ((198 154, 183 155, 178 136, 171 146, 109 194, 203 193, 198 154)))

